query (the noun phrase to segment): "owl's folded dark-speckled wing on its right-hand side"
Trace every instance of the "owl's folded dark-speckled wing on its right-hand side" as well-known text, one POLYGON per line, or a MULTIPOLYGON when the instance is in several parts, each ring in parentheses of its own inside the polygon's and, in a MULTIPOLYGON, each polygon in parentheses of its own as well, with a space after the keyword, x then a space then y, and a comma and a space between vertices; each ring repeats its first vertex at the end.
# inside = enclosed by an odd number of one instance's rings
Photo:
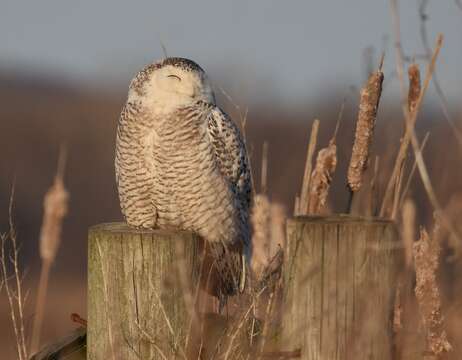
POLYGON ((236 194, 242 213, 248 214, 252 195, 251 172, 244 139, 236 124, 220 108, 207 119, 208 133, 220 172, 236 194))

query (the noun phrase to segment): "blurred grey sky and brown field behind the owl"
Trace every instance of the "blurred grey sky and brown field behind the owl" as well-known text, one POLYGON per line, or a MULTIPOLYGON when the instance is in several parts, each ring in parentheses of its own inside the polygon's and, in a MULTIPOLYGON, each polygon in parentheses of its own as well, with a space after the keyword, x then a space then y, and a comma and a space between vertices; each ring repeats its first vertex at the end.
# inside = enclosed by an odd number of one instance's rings
MULTIPOLYGON (((461 192, 461 148, 448 125, 460 126, 462 7, 457 0, 400 2, 402 47, 425 69, 426 44, 438 33, 443 97, 431 84, 418 120, 430 132, 425 159, 443 206, 461 192)), ((66 144, 70 193, 62 243, 53 266, 44 341, 75 327, 86 312, 88 227, 121 220, 114 182, 115 129, 128 84, 145 64, 164 56, 190 58, 209 74, 220 105, 239 123, 247 113, 247 141, 256 183, 261 148, 269 143, 268 193, 290 214, 299 192, 309 129, 321 120, 319 146, 331 137, 341 104, 338 168, 330 208, 345 209, 359 89, 385 53, 385 83, 373 157, 381 157, 379 193, 402 134, 392 24, 387 1, 109 1, 2 0, 0 10, 0 231, 13 217, 33 316, 40 265, 43 196, 66 144), (227 94, 225 96, 225 94, 227 94), (230 100, 232 99, 232 101, 230 100)), ((423 71, 422 71, 423 72, 423 71)), ((419 179, 412 187, 421 224, 432 210, 419 179)), ((361 213, 360 205, 356 211, 361 213)), ((453 289, 453 287, 451 287, 453 289)), ((9 310, 0 295, 0 349, 14 350, 9 310)), ((2 357, 3 358, 3 357, 2 357)))

